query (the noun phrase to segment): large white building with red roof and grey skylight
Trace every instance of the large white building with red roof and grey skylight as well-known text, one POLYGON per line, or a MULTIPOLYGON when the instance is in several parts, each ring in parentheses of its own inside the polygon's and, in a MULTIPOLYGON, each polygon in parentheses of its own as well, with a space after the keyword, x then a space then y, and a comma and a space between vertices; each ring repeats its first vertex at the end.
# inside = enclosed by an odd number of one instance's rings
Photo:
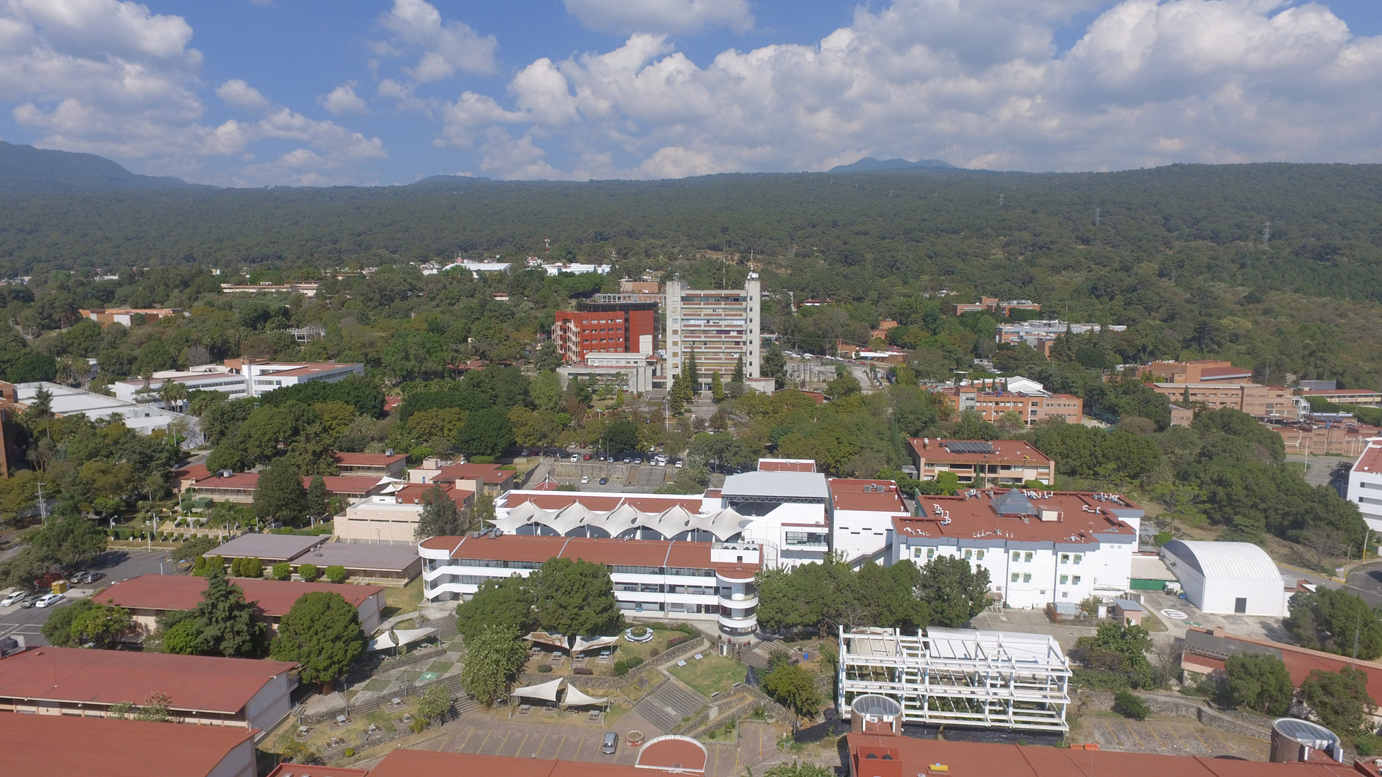
POLYGON ((1143 510, 1121 496, 967 489, 916 506, 918 516, 893 518, 889 564, 965 559, 988 570, 990 596, 1009 607, 1078 607, 1132 582, 1143 510))

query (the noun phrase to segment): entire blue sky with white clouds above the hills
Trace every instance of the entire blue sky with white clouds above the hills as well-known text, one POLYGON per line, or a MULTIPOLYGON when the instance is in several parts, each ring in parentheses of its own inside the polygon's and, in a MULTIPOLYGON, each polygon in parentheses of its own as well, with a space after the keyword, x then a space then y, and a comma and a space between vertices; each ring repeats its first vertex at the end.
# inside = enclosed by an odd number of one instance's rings
POLYGON ((0 138, 218 185, 1382 160, 1378 0, 0 0, 0 138))

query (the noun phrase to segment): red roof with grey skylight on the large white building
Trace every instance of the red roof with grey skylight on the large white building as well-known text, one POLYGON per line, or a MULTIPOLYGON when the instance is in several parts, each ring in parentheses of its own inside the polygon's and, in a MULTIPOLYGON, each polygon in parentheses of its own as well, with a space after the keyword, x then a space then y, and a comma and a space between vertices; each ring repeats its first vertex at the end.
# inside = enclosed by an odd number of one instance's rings
POLYGON ((918 506, 922 517, 894 517, 893 531, 898 538, 955 538, 955 539, 983 539, 996 538, 998 532, 1006 539, 1020 542, 1060 542, 1060 543, 1093 543, 1099 542, 1096 535, 1121 534, 1132 535, 1130 525, 1122 523, 1110 510, 1136 510, 1140 507, 1119 499, 1119 502, 1101 502, 1093 494, 1079 491, 1045 492, 1050 496, 1030 499, 1036 510, 1054 510, 1060 513, 1057 520, 1041 520, 1038 516, 1028 516, 1023 521, 1017 516, 999 516, 994 509, 995 498, 1006 494, 1005 489, 980 491, 978 496, 919 496, 918 506), (940 507, 940 510, 937 510, 940 507), (1099 512, 1095 512, 1099 510, 1099 512), (944 523, 944 512, 949 523, 944 523))

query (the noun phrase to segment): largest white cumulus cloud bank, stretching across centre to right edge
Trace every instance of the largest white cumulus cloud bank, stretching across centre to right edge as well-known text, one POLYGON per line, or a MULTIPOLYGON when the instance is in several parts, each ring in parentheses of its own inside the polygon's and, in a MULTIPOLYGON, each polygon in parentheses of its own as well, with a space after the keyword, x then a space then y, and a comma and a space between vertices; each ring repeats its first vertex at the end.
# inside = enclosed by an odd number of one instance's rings
POLYGON ((536 59, 506 94, 448 101, 438 141, 507 177, 810 170, 864 155, 1028 170, 1363 162, 1382 152, 1379 69, 1382 37, 1316 3, 894 0, 814 46, 697 64, 644 32, 536 59), (1057 29, 1092 11, 1060 51, 1057 29))

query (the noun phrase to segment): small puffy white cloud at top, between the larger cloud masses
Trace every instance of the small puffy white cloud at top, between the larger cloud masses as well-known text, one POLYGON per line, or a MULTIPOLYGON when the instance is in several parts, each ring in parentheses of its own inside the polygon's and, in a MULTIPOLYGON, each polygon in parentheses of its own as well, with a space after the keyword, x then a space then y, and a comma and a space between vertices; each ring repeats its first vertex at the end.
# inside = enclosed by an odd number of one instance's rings
POLYGON ((496 68, 495 36, 481 36, 464 22, 442 21, 441 12, 424 0, 394 0, 394 7, 379 17, 379 26, 392 37, 373 43, 377 54, 401 57, 420 51, 417 64, 404 68, 415 82, 441 80, 457 71, 492 73, 496 68))

